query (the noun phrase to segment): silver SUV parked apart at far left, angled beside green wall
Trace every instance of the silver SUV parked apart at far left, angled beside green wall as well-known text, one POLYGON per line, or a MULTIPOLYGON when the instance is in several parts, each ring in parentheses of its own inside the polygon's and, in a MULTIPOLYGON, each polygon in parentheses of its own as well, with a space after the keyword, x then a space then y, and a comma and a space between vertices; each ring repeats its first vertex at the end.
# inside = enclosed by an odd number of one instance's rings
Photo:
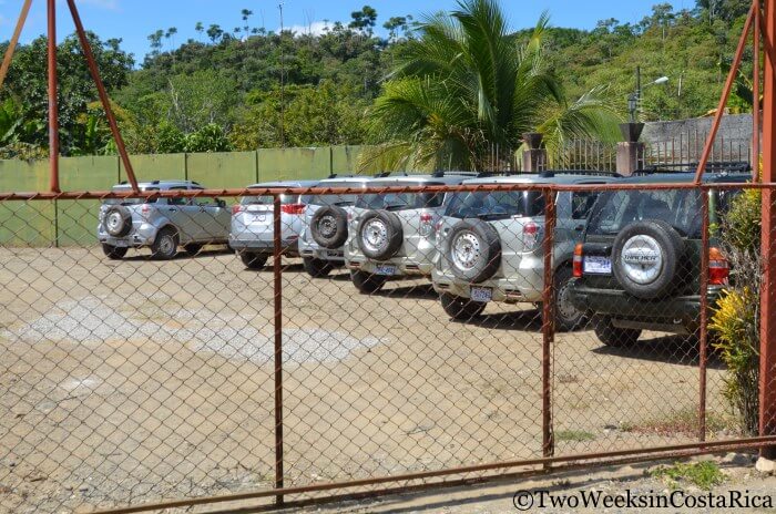
MULTIPOLYGON (((144 193, 204 189, 196 182, 154 181, 137 184, 144 193)), ((127 192, 127 184, 114 186, 127 192)), ((172 259, 178 246, 190 255, 204 245, 226 244, 229 210, 217 198, 121 198, 100 206, 98 239, 110 259, 121 259, 129 248, 151 247, 153 256, 172 259)))

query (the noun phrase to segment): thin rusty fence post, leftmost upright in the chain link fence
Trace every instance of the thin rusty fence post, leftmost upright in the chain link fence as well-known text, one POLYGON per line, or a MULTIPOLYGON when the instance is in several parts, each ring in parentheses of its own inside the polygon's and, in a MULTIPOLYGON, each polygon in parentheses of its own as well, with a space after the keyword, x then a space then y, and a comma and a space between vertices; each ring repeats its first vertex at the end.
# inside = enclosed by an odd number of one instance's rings
MULTIPOLYGON (((273 196, 273 274, 275 297, 275 489, 283 489, 283 275, 282 275, 282 210, 280 195, 273 196)), ((283 494, 275 496, 283 505, 283 494)))

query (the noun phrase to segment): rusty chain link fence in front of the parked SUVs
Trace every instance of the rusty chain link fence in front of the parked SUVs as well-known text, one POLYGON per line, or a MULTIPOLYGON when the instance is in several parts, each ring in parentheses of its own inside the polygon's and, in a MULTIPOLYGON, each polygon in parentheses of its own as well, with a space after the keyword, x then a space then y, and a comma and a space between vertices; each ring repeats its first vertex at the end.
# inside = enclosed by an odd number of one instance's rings
POLYGON ((0 510, 763 444, 701 330, 748 294, 721 230, 742 189, 463 178, 3 197, 0 510))

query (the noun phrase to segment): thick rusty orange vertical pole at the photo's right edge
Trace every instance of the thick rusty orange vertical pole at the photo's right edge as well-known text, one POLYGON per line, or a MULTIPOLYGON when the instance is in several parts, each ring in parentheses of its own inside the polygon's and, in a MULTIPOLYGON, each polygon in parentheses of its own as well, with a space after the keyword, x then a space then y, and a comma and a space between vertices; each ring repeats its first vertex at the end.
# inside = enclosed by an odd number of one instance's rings
MULTIPOLYGON (((774 182, 776 156, 776 0, 765 2, 765 66, 763 105, 763 182, 774 182)), ((759 337, 759 433, 776 434, 776 210, 773 189, 763 191, 763 287, 760 291, 759 337)), ((776 446, 760 451, 766 459, 776 459, 776 446)))

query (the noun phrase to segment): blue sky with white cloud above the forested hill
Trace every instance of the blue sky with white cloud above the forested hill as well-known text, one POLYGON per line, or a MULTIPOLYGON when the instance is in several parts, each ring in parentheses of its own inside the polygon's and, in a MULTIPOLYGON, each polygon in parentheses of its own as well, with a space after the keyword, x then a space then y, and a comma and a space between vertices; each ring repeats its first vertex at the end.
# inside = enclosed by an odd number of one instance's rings
MULTIPOLYGON (((532 25, 543 10, 548 10, 552 24, 592 29, 601 19, 616 18, 620 21, 635 22, 650 12, 651 6, 662 0, 502 0, 509 19, 515 29, 532 25)), ((19 16, 22 0, 0 0, 0 40, 11 37, 13 24, 19 16)), ((73 31, 69 11, 63 0, 58 0, 59 31, 67 34, 73 31)), ((194 25, 202 21, 205 25, 217 23, 224 30, 242 27, 242 9, 251 9, 254 17, 252 27, 279 28, 278 0, 76 0, 81 18, 88 29, 103 39, 122 38, 123 48, 135 54, 139 61, 149 51, 147 35, 156 29, 175 27, 178 34, 175 43, 196 38, 194 25)), ((451 10, 456 0, 286 0, 284 18, 286 27, 298 31, 314 30, 324 20, 350 20, 350 12, 365 3, 374 7, 378 14, 378 27, 391 16, 412 14, 451 10)), ((675 0, 675 9, 693 8, 694 0, 675 0)), ((45 1, 34 0, 22 42, 30 41, 45 31, 45 1)), ((172 41, 167 42, 172 44, 172 41)))

